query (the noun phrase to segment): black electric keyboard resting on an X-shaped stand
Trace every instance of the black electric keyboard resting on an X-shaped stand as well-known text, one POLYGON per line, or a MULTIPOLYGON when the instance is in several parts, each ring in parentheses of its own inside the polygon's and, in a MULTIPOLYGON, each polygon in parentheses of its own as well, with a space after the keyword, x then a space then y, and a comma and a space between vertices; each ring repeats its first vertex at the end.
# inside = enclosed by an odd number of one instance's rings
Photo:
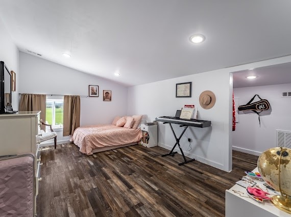
POLYGON ((203 121, 198 119, 182 119, 177 117, 168 117, 161 116, 156 118, 156 121, 164 122, 164 123, 173 123, 173 124, 181 124, 186 126, 194 126, 194 127, 209 127, 211 126, 211 121, 203 121))

